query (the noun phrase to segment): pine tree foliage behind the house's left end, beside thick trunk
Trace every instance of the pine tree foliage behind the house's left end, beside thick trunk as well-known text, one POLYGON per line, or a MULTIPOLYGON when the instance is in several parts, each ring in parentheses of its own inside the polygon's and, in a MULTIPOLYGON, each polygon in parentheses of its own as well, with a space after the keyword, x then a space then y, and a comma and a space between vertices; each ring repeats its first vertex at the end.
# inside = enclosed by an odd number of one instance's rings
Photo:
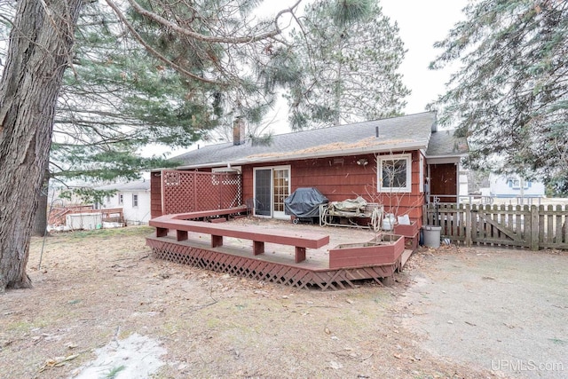
MULTIPOLYGON (((175 164, 166 157, 143 158, 140 151, 153 145, 190 146, 215 128, 215 88, 188 80, 149 56, 108 8, 85 6, 75 31, 73 70, 67 70, 59 97, 51 177, 108 182, 175 164)), ((170 55, 177 51, 188 69, 202 75, 206 62, 193 65, 193 52, 175 36, 165 36, 163 28, 140 17, 130 21, 156 49, 170 55)))

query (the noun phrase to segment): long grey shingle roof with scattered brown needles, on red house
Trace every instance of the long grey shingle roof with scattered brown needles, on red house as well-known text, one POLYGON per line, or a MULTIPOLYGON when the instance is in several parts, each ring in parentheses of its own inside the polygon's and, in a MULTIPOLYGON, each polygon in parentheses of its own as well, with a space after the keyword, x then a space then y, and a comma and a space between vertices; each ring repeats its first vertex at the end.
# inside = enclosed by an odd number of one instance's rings
POLYGON ((216 167, 252 162, 279 162, 314 157, 426 149, 436 130, 436 114, 425 112, 369 122, 272 136, 270 146, 233 142, 201 147, 171 158, 180 168, 216 167), (378 130, 379 137, 376 138, 378 130))

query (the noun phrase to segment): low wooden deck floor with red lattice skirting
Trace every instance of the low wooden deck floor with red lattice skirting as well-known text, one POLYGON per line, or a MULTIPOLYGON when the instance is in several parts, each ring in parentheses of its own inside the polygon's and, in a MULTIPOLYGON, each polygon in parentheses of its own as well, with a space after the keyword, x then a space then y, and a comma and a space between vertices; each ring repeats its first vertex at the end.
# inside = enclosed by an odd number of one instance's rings
MULTIPOLYGON (((272 281, 297 288, 339 289, 354 287, 358 280, 375 280, 389 285, 393 274, 402 269, 412 250, 400 249, 388 262, 358 265, 358 258, 343 259, 345 265, 329 265, 329 250, 340 245, 360 242, 365 244, 376 238, 369 230, 345 230, 319 225, 294 225, 291 222, 246 217, 224 223, 236 230, 248 228, 262 230, 264 234, 325 233, 329 243, 319 249, 306 249, 306 257, 296 263, 296 249, 278 243, 266 242, 264 254, 254 255, 251 241, 225 237, 222 246, 212 247, 208 233, 187 232, 187 239, 177 241, 177 231, 146 238, 154 257, 185 265, 226 272, 254 280, 272 281), (390 261, 392 260, 392 261, 390 261)), ((278 241, 278 240, 275 240, 278 241)), ((360 260, 359 260, 360 262, 360 260)))

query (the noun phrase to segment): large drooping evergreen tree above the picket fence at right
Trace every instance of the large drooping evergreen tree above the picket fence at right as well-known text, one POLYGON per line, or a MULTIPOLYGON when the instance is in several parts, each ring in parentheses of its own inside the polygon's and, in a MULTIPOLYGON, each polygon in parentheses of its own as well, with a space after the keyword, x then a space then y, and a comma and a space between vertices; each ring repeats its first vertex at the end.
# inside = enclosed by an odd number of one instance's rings
POLYGON ((459 61, 438 121, 469 138, 474 169, 541 178, 568 193, 568 2, 469 4, 432 68, 459 61))

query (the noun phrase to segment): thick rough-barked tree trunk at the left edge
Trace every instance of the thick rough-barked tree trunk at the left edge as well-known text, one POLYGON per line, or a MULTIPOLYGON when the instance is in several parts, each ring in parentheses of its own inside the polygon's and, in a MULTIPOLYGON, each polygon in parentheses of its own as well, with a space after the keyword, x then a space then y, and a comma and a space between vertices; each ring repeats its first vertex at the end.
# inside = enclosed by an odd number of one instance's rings
POLYGON ((28 288, 29 241, 81 0, 21 0, 0 80, 0 292, 28 288))

